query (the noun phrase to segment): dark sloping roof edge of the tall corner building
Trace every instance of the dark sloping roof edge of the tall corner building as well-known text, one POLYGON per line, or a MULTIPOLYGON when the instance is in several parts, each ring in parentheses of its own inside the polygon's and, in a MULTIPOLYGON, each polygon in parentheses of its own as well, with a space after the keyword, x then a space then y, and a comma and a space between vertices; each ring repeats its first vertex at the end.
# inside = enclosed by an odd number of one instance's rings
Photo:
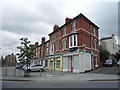
POLYGON ((63 28, 65 25, 70 24, 72 21, 74 21, 77 18, 84 18, 87 21, 89 21, 91 24, 93 24, 96 28, 99 29, 99 27, 97 25, 95 25, 93 22, 91 22, 87 17, 85 17, 82 13, 80 13, 78 16, 74 17, 72 20, 70 20, 69 22, 65 23, 64 25, 62 25, 61 27, 59 27, 57 30, 53 31, 52 33, 49 34, 49 36, 51 34, 53 34, 54 32, 58 31, 59 29, 63 28))

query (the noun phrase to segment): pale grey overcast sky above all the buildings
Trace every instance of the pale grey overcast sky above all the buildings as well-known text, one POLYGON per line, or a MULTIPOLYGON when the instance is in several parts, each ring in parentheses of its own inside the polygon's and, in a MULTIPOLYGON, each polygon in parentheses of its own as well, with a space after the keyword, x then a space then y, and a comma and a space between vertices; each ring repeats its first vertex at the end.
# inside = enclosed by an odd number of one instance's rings
POLYGON ((80 13, 100 27, 99 38, 115 35, 118 43, 118 0, 1 0, 0 52, 19 52, 20 38, 31 44, 49 39, 53 26, 80 13))

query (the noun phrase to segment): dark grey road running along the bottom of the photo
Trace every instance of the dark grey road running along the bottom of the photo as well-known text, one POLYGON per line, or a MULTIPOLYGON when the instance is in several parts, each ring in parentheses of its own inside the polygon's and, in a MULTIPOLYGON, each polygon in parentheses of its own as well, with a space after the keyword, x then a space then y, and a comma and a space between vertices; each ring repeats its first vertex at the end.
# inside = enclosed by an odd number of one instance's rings
POLYGON ((118 81, 3 81, 3 88, 118 88, 118 81))

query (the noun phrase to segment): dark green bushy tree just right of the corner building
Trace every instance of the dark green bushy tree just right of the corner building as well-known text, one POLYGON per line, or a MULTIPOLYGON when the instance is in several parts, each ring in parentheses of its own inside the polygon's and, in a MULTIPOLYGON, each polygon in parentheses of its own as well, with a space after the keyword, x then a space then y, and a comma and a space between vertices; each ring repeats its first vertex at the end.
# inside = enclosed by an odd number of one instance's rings
POLYGON ((104 63, 107 59, 109 59, 110 53, 108 50, 104 49, 102 46, 100 46, 100 61, 101 63, 104 63))

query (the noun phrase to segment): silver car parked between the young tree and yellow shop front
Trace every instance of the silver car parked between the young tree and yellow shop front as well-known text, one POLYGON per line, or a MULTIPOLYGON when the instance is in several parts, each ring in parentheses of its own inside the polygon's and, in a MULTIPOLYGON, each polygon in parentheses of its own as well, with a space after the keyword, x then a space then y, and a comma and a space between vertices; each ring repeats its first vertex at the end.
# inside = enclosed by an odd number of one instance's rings
POLYGON ((45 71, 45 68, 44 68, 44 66, 43 65, 39 65, 39 64, 37 64, 37 65, 30 65, 30 66, 28 66, 28 67, 25 67, 24 68, 24 70, 27 70, 27 68, 28 68, 28 71, 45 71))

